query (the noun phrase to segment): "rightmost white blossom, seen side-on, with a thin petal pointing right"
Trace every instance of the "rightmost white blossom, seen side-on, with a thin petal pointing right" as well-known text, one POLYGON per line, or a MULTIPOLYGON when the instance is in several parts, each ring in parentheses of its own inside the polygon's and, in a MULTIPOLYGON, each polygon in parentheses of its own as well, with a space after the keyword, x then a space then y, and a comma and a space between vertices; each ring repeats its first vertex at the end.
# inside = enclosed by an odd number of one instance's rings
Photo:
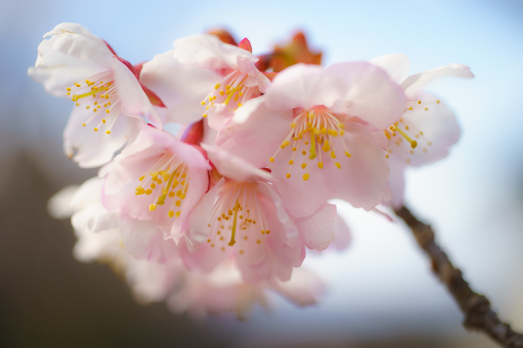
POLYGON ((388 138, 389 183, 393 192, 390 204, 399 207, 403 203, 406 167, 444 158, 460 134, 454 113, 421 88, 440 77, 472 78, 474 74, 468 66, 453 63, 407 77, 410 63, 403 54, 388 54, 370 62, 385 69, 405 90, 405 112, 383 131, 388 138))

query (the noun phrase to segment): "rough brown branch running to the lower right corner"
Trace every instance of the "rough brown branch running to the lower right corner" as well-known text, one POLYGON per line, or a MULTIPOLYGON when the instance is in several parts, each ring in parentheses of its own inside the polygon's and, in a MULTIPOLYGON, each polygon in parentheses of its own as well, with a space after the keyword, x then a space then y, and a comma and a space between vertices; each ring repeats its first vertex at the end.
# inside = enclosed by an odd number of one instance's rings
POLYGON ((490 307, 488 299, 475 293, 463 280, 461 271, 452 265, 447 254, 436 244, 432 228, 420 222, 404 206, 397 209, 395 213, 412 229, 419 246, 430 257, 434 273, 447 286, 448 291, 460 306, 465 315, 463 321, 465 329, 483 331, 505 347, 523 347, 523 335, 512 330, 509 324, 499 320, 490 307))

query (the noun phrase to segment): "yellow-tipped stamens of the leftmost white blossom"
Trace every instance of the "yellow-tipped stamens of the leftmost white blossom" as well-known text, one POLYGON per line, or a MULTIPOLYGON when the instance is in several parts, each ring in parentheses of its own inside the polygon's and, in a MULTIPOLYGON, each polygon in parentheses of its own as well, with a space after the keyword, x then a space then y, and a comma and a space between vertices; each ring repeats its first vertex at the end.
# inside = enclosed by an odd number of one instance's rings
POLYGON ((106 134, 111 134, 112 126, 118 118, 119 112, 111 113, 111 110, 118 105, 117 86, 111 71, 106 71, 87 78, 83 83, 75 83, 72 87, 67 87, 67 95, 75 102, 76 107, 92 110, 91 114, 82 126, 88 123, 97 123, 94 131, 108 124, 106 134), (112 115, 114 114, 114 117, 112 115), (112 118, 112 120, 110 120, 112 118), (110 123, 107 123, 108 121, 110 123))

